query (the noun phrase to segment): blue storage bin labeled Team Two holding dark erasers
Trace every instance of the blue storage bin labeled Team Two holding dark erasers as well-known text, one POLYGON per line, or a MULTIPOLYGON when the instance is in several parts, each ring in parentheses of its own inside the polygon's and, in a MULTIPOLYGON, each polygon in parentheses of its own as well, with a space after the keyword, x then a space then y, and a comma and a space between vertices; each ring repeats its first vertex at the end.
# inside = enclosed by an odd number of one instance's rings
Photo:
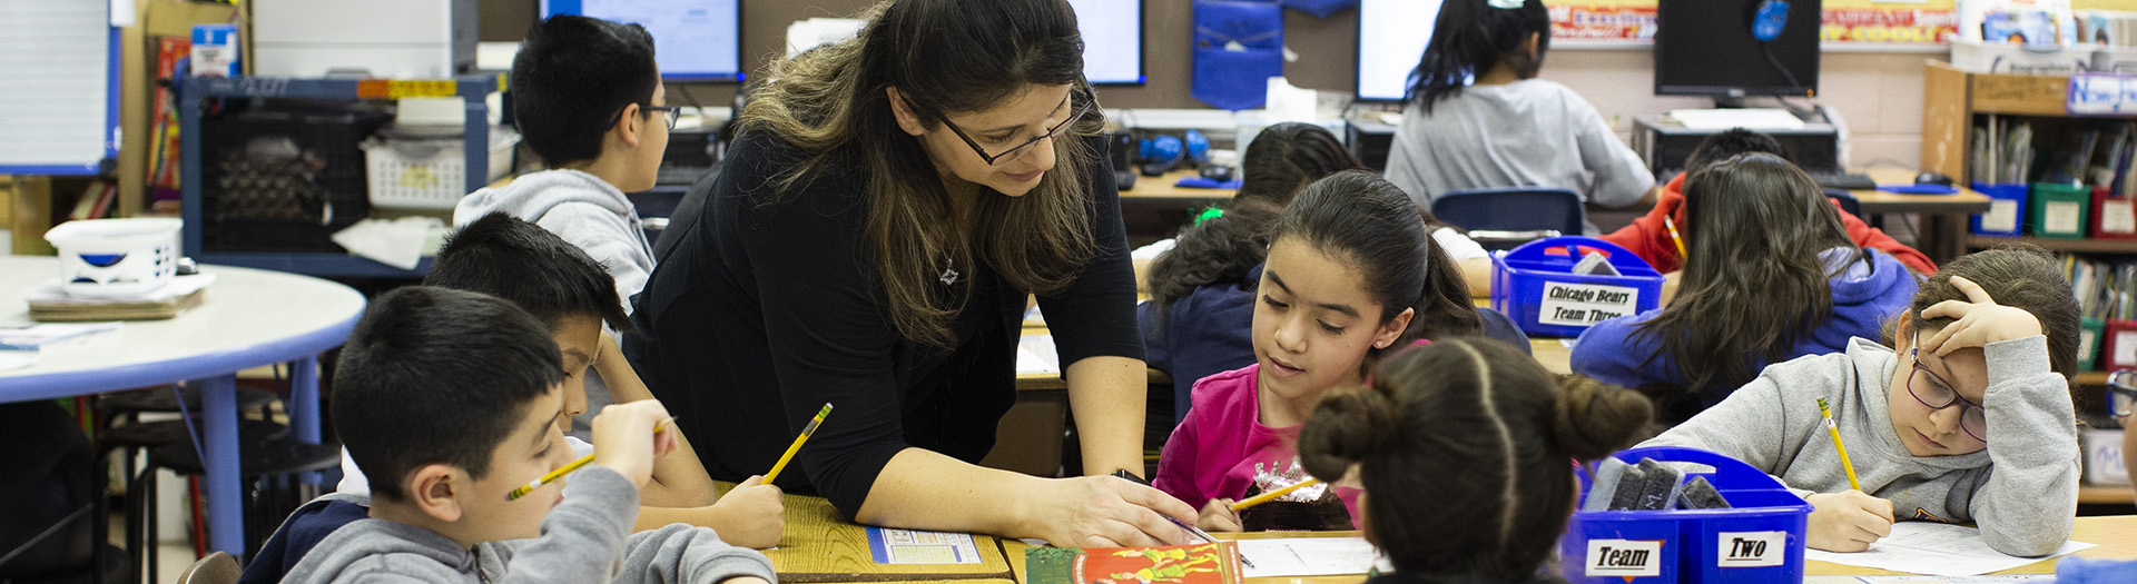
MULTIPOLYGON (((1558 539, 1569 582, 1804 582, 1804 528, 1810 503, 1742 460, 1690 447, 1643 447, 1616 454, 1626 464, 1697 462, 1735 509, 1575 511, 1558 539)), ((1581 494, 1590 488, 1579 473, 1581 494)))

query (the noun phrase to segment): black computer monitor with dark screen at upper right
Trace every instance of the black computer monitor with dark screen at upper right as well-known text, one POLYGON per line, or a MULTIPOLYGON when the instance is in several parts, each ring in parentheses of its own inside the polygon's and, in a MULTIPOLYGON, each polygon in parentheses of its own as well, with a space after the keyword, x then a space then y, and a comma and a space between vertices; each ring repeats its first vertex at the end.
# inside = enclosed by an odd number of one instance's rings
POLYGON ((1725 107, 1746 96, 1810 96, 1819 90, 1821 15, 1819 0, 1660 0, 1654 94, 1714 96, 1725 107), (1752 32, 1761 17, 1780 24, 1772 41, 1752 32))

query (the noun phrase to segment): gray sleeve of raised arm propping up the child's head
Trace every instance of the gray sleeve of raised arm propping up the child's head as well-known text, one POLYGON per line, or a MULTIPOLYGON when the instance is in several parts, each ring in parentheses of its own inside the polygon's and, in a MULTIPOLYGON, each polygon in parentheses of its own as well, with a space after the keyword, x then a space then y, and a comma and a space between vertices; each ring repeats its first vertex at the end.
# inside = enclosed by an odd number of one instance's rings
MULTIPOLYGON (((1928 349, 1923 349, 1928 351, 1928 349)), ((2047 366, 2047 338, 1981 349, 1990 366, 1990 473, 1970 503, 1981 539, 1996 552, 2045 556, 2077 522, 2077 415, 2069 383, 2047 366)))

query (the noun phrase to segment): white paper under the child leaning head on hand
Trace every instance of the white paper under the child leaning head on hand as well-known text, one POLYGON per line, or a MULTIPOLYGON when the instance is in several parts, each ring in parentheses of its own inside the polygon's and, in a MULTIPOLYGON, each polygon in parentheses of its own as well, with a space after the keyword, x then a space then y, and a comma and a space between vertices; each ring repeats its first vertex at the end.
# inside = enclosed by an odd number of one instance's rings
POLYGON ((1981 575, 1990 571, 2005 571, 2054 556, 2071 554, 2077 550, 2092 548, 2084 541, 2064 541, 2054 554, 2039 558, 2017 558, 2005 556, 1981 541, 1981 531, 1970 526, 1936 524, 1936 522, 1898 522, 1891 526, 1891 535, 1870 543, 1868 552, 1836 554, 1808 550, 1804 558, 1836 563, 1836 565, 1857 565, 1876 567, 1891 571, 1910 571, 1928 575, 1981 575))

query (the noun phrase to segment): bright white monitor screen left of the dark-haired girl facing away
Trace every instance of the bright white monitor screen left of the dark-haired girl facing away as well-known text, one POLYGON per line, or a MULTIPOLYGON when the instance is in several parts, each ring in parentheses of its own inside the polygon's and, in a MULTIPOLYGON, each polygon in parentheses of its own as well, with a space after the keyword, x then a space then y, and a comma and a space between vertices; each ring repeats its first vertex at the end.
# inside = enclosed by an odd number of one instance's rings
POLYGON ((1402 101, 1410 71, 1425 58, 1442 0, 1361 0, 1357 4, 1357 98, 1402 101))

